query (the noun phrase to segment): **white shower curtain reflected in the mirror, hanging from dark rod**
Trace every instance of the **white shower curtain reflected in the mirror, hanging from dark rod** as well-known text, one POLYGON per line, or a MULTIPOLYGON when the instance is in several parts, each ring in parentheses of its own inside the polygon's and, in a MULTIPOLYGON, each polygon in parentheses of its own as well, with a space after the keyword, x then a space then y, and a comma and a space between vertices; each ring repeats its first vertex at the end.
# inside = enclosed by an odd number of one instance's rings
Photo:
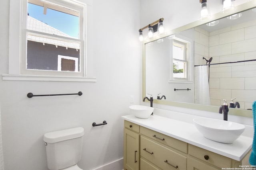
POLYGON ((208 66, 195 66, 195 103, 210 105, 208 66))

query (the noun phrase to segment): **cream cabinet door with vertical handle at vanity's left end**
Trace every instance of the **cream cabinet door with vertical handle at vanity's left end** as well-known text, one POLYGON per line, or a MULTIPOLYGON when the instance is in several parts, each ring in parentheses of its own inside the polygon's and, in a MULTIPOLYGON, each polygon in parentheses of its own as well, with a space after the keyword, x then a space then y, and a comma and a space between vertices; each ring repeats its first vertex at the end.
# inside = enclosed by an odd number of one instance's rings
POLYGON ((124 128, 124 170, 140 169, 140 135, 124 128))

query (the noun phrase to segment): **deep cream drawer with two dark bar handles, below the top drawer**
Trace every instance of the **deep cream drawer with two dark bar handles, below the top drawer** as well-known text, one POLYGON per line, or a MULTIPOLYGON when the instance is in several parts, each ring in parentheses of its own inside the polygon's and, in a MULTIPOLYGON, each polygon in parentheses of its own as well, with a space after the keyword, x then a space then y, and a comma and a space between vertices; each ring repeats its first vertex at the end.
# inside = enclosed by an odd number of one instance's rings
POLYGON ((163 170, 186 170, 186 157, 140 136, 140 156, 163 170))

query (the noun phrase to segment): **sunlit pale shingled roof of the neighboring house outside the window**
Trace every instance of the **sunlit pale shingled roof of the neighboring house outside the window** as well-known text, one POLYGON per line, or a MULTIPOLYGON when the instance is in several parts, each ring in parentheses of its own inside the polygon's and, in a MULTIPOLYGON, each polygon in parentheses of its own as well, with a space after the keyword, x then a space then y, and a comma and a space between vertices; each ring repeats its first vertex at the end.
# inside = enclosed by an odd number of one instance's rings
MULTIPOLYGON (((54 27, 51 27, 50 25, 47 25, 46 23, 43 23, 41 21, 36 20, 35 18, 32 18, 31 16, 27 16, 27 17, 28 17, 28 29, 30 30, 73 38, 67 35, 66 33, 63 33, 62 31, 54 27)), ((57 46, 62 46, 67 48, 80 49, 80 43, 72 43, 70 41, 61 41, 57 38, 54 39, 54 37, 47 38, 47 36, 44 36, 44 35, 37 36, 33 33, 28 33, 27 40, 36 41, 43 44, 47 43, 47 44, 52 44, 52 45, 57 45, 57 46)))

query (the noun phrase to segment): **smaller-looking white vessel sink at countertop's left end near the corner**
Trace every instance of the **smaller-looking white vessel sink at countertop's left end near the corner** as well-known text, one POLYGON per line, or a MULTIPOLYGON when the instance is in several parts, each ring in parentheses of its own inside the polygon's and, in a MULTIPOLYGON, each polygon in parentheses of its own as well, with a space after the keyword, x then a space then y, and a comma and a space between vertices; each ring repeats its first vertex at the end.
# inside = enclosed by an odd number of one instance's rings
POLYGON ((129 107, 130 111, 135 117, 141 119, 148 119, 151 113, 154 111, 153 107, 142 106, 142 105, 132 105, 129 107))

